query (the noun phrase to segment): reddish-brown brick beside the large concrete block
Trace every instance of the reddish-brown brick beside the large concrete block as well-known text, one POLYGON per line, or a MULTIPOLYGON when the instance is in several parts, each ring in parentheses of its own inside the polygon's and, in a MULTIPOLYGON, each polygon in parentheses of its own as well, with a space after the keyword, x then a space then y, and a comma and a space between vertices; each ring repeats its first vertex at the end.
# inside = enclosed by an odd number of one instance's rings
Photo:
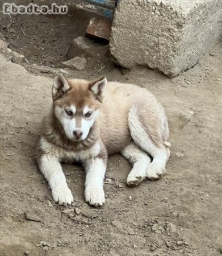
POLYGON ((86 29, 86 36, 110 40, 111 20, 93 17, 86 29))

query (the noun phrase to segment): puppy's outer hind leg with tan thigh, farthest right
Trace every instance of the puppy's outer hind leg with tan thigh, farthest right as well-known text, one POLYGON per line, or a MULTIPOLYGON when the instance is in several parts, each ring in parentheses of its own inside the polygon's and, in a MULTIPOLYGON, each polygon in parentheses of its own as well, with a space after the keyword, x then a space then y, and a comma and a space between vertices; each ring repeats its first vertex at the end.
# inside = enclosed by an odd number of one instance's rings
POLYGON ((169 143, 162 139, 161 122, 148 108, 141 111, 133 106, 129 110, 128 123, 133 141, 153 158, 146 170, 148 179, 158 179, 164 174, 170 156, 169 143))

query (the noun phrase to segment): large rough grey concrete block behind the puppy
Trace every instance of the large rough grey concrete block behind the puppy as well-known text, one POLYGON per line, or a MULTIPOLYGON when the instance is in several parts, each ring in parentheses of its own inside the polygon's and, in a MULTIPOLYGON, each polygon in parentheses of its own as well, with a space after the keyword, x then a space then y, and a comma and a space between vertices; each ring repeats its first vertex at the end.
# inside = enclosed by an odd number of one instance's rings
POLYGON ((146 65, 177 76, 220 42, 221 10, 220 0, 119 1, 111 55, 125 68, 146 65))

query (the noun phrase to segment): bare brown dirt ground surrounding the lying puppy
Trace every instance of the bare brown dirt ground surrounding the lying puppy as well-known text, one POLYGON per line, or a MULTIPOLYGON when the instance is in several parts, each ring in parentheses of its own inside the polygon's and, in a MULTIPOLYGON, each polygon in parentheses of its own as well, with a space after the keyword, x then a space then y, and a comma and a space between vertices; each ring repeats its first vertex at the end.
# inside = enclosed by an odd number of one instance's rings
POLYGON ((106 75, 153 92, 169 117, 171 157, 161 180, 128 188, 131 166, 110 156, 106 204, 97 209, 85 204, 82 168, 64 165, 75 202, 63 207, 52 201, 33 152, 59 71, 52 67, 65 60, 90 18, 79 15, 26 22, 0 16, 1 38, 28 60, 22 67, 0 55, 0 255, 221 255, 222 44, 174 79, 144 67, 122 75, 106 57, 91 58, 81 72, 66 70, 68 77, 106 75))

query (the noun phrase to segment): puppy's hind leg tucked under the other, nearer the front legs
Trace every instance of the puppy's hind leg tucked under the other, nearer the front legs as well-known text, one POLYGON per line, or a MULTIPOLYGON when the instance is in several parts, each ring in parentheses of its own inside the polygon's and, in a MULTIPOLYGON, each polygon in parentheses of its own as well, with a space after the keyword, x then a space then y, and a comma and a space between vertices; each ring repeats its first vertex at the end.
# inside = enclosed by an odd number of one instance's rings
POLYGON ((135 187, 145 179, 146 170, 151 160, 134 142, 130 142, 123 148, 121 154, 133 164, 133 168, 127 177, 127 184, 129 187, 135 187))

